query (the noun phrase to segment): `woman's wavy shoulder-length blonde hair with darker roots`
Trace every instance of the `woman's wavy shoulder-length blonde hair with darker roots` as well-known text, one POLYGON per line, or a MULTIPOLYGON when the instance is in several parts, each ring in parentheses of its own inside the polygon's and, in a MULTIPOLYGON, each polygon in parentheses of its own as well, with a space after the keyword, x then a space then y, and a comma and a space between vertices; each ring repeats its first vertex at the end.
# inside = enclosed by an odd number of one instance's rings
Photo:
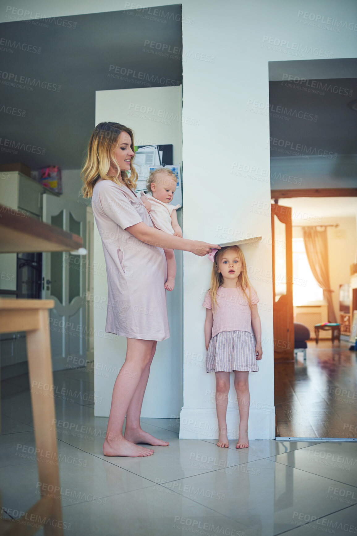
POLYGON ((127 132, 131 138, 131 148, 134 151, 134 135, 130 128, 121 125, 120 123, 98 123, 95 127, 92 136, 88 143, 87 158, 81 171, 81 179, 83 182, 82 194, 83 197, 92 197, 93 188, 99 178, 104 178, 120 184, 118 177, 131 190, 135 189, 136 181, 138 181, 138 173, 133 166, 132 158, 130 162, 130 176, 126 171, 121 171, 119 164, 115 158, 115 151, 118 147, 119 136, 121 132, 127 132), (116 176, 108 175, 110 165, 118 168, 116 176))

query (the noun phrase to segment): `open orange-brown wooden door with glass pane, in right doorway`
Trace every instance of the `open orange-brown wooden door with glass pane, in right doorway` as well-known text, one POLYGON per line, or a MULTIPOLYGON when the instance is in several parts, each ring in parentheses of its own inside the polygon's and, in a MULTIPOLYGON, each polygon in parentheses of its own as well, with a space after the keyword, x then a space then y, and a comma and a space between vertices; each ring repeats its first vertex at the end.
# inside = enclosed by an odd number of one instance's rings
POLYGON ((274 361, 294 361, 291 207, 271 205, 274 361))

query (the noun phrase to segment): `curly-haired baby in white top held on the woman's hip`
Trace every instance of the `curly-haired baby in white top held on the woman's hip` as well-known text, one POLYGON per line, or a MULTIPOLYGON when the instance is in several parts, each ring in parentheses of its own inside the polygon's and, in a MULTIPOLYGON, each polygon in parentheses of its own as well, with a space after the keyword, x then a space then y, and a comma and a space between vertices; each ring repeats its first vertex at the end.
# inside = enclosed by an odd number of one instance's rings
MULTIPOLYGON (((165 233, 182 238, 182 230, 177 221, 176 209, 181 205, 170 205, 177 186, 176 175, 169 168, 157 168, 150 173, 147 188, 150 193, 141 193, 141 200, 148 211, 154 227, 165 233), (150 200, 149 200, 150 199, 150 200)), ((173 249, 163 248, 168 263, 168 278, 165 288, 173 291, 176 276, 176 260, 173 249)))

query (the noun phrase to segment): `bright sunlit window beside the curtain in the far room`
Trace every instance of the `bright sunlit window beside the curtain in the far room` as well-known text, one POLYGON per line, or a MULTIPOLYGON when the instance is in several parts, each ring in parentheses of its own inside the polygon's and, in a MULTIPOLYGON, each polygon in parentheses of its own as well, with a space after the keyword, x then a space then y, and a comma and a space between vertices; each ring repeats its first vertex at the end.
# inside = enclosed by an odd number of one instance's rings
POLYGON ((322 288, 310 269, 303 238, 293 238, 293 304, 301 306, 316 301, 324 301, 322 288))

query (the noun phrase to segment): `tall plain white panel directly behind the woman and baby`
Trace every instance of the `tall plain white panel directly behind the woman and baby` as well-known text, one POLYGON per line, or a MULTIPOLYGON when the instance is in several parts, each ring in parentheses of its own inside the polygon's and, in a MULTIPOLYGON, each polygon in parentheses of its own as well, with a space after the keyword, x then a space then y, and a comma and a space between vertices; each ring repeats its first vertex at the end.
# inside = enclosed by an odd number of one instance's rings
MULTIPOLYGON (((95 124, 118 121, 134 131, 135 145, 172 144, 173 161, 181 163, 182 86, 146 87, 96 92, 95 124), (150 108, 150 110, 148 110, 150 108), (159 110, 162 110, 159 113, 159 110), (166 117, 166 118, 165 118, 166 117), (170 120, 169 118, 172 117, 170 120)), ((95 126, 95 125, 93 125, 95 126)), ((181 210, 178 210, 181 223, 181 210)), ((166 292, 170 338, 157 343, 142 405, 142 417, 167 418, 178 414, 183 400, 183 253, 175 251, 176 281, 166 292)), ((105 333, 107 274, 100 234, 94 226, 94 414, 108 416, 111 393, 124 363, 126 338, 105 333)))

